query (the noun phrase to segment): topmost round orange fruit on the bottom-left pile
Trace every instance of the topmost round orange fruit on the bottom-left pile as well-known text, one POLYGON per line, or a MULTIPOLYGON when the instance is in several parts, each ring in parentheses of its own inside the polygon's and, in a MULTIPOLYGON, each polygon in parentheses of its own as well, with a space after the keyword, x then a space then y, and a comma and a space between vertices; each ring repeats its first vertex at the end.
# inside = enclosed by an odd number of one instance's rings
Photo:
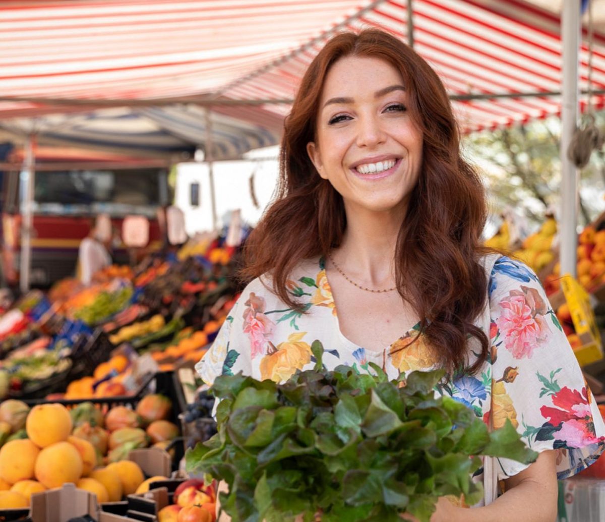
POLYGON ((25 421, 27 436, 40 448, 67 440, 71 428, 73 423, 70 412, 58 403, 34 406, 25 421))

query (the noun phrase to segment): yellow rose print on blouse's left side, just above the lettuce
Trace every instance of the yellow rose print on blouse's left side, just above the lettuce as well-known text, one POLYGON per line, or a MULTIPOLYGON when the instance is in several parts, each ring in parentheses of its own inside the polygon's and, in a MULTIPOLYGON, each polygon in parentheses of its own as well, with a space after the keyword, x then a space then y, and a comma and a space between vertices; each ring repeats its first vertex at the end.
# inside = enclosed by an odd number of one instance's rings
POLYGON ((311 346, 303 342, 307 332, 290 334, 288 340, 270 348, 260 363, 261 378, 283 382, 292 377, 297 369, 311 362, 311 346))

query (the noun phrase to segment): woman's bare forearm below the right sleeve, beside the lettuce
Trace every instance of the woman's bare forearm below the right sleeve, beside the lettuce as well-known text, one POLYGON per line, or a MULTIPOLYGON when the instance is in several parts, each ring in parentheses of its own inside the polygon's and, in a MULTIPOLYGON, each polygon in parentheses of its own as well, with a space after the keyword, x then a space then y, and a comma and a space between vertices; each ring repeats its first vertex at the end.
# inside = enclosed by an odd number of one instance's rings
MULTIPOLYGON (((554 522, 557 519, 557 451, 541 452, 527 469, 505 481, 506 492, 492 504, 474 509, 440 498, 431 522, 554 522)), ((413 519, 408 519, 413 520, 413 519)))

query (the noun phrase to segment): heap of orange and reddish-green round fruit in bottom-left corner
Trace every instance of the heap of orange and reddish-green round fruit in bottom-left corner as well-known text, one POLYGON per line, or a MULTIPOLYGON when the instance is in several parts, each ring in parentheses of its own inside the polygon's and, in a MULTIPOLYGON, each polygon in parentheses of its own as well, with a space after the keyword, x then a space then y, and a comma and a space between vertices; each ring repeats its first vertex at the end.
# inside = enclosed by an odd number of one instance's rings
MULTIPOLYGON (((143 472, 128 454, 131 449, 165 446, 178 437, 178 427, 167 420, 171 408, 171 401, 158 394, 147 395, 134 410, 114 406, 106 413, 92 403, 69 411, 59 403, 30 409, 21 401, 4 401, 0 480, 21 495, 24 507, 33 493, 68 482, 95 494, 100 503, 145 491, 151 479, 145 484, 143 472)), ((0 507, 6 504, 0 499, 0 507)))

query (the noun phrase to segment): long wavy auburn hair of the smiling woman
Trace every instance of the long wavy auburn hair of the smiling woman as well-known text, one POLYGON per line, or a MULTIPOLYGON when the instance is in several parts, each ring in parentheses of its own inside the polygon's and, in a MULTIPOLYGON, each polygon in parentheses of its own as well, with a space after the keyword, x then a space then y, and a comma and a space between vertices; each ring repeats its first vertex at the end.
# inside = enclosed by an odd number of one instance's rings
POLYGON ((302 259, 325 256, 342 242, 347 226, 342 197, 319 176, 306 147, 316 141, 327 73, 345 56, 382 59, 404 79, 408 111, 424 144, 422 170, 397 237, 397 290, 422 318, 422 332, 442 366, 450 372, 475 372, 489 347, 485 333, 473 324, 487 295, 479 262, 489 252, 480 244, 486 219, 483 185, 460 156, 456 121, 437 74, 408 45, 384 31, 334 36, 304 74, 284 124, 275 199, 247 240, 243 276, 270 273, 273 292, 301 309, 287 289, 289 274, 302 259), (481 346, 470 367, 469 337, 476 337, 481 346))

